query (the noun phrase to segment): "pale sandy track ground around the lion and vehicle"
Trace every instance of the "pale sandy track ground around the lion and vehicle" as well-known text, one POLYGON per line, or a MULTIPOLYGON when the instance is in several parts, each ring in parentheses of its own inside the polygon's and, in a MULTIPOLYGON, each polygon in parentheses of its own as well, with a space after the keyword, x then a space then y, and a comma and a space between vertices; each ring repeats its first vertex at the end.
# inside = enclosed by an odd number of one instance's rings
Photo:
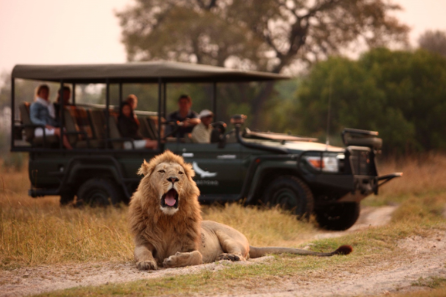
MULTIPOLYGON (((364 208, 358 222, 345 232, 321 232, 316 239, 341 236, 346 232, 386 224, 394 206, 364 208)), ((413 290, 411 284, 420 277, 446 277, 446 232, 433 233, 429 238, 412 237, 399 243, 407 254, 406 261, 378 263, 360 269, 345 269, 323 277, 310 275, 279 280, 274 286, 256 284, 255 289, 236 288, 226 296, 291 297, 291 296, 358 296, 378 295, 396 290, 413 290)), ((269 261, 262 257, 244 263, 269 261)), ((133 263, 87 263, 39 266, 0 271, 0 297, 26 296, 78 286, 98 286, 109 283, 154 279, 164 276, 199 273, 224 269, 227 263, 211 263, 194 267, 161 269, 155 272, 138 271, 133 263)))

